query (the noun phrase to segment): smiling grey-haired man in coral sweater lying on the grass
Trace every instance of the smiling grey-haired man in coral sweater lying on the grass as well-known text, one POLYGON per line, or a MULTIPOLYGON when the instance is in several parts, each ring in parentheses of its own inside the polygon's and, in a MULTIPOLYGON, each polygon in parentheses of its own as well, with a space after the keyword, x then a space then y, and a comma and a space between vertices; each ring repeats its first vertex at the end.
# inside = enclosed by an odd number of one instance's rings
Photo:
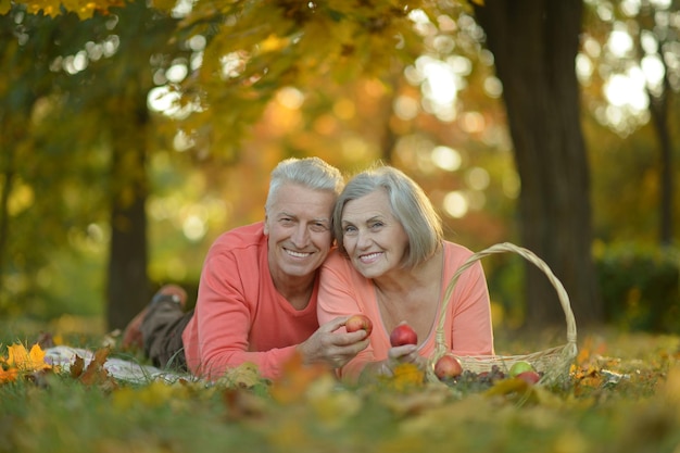
POLYGON ((368 344, 366 332, 319 327, 319 267, 333 237, 331 216, 343 179, 318 158, 288 159, 272 172, 264 222, 223 234, 211 247, 192 312, 186 292, 165 286, 126 328, 154 365, 215 379, 251 362, 276 379, 299 353, 304 363, 343 366, 368 344))

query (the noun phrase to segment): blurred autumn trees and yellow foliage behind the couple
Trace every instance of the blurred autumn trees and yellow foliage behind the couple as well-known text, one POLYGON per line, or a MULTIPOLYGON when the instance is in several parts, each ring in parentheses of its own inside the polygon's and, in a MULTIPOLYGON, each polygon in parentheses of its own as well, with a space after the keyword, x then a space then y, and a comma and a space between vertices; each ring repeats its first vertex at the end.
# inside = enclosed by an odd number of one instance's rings
MULTIPOLYGON (((0 11, 5 325, 103 334, 159 285, 193 298, 278 161, 316 155, 403 169, 474 251, 546 257, 597 307, 577 318, 680 332, 678 1, 52 3, 0 11), (551 249, 571 236, 585 267, 551 249)), ((554 320, 519 257, 483 265, 496 327, 554 320)))

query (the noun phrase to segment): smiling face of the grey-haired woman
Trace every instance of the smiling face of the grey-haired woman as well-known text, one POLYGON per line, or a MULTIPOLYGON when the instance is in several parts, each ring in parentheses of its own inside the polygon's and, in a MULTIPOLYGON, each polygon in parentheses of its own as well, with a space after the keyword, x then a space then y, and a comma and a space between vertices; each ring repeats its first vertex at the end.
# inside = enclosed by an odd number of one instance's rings
POLYGON ((367 278, 399 268, 408 249, 408 236, 382 189, 344 205, 342 240, 352 264, 367 278))

